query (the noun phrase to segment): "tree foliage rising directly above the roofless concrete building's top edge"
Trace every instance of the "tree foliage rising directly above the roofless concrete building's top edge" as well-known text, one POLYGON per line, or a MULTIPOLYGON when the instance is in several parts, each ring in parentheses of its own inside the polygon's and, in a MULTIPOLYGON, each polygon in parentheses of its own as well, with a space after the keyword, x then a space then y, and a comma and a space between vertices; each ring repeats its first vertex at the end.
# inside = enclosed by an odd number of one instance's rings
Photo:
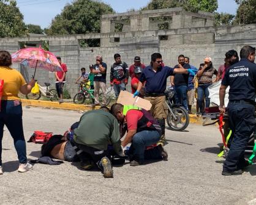
POLYGON ((214 12, 218 8, 217 0, 151 0, 142 10, 183 7, 190 12, 214 12))

